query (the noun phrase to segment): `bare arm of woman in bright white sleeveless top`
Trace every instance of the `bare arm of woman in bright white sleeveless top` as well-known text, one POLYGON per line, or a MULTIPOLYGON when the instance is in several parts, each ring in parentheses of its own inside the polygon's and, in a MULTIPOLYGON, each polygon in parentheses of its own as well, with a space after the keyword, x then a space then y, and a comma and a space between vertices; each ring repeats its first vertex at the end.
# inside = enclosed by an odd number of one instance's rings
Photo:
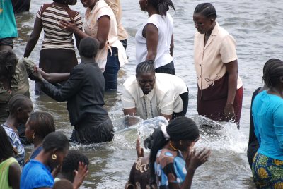
POLYGON ((146 25, 146 47, 147 56, 146 61, 154 61, 157 54, 157 44, 158 44, 158 30, 154 24, 148 23, 146 25))

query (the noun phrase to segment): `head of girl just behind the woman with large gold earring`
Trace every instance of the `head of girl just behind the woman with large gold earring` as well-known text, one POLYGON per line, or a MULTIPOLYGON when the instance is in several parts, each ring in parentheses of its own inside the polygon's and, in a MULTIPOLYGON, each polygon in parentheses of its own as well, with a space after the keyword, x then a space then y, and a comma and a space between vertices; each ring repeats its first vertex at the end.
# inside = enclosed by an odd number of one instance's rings
POLYGON ((43 140, 46 135, 55 131, 55 123, 51 114, 45 111, 37 111, 30 114, 25 124, 25 137, 33 143, 35 138, 43 140))

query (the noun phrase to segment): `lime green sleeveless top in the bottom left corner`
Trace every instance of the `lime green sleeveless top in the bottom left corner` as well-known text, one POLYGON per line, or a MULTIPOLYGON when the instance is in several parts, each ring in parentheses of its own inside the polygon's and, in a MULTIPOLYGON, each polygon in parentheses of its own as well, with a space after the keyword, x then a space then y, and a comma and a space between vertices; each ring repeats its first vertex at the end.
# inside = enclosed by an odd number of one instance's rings
POLYGON ((12 187, 8 185, 8 172, 11 164, 13 163, 18 165, 18 161, 13 157, 10 157, 0 163, 0 188, 12 189, 12 187))

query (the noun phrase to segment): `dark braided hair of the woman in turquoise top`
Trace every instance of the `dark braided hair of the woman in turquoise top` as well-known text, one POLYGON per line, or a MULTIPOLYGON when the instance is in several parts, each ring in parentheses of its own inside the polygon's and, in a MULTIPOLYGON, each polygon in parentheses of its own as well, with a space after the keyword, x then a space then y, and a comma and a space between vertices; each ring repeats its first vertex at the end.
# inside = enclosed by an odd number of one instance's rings
POLYGON ((263 80, 267 87, 275 87, 283 77, 283 62, 279 59, 269 59, 263 66, 263 80))

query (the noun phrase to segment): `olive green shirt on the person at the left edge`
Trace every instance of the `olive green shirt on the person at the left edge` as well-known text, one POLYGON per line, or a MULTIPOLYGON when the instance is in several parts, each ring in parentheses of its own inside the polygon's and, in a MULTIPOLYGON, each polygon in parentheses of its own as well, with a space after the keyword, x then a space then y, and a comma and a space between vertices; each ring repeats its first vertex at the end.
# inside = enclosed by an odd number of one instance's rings
POLYGON ((28 77, 34 72, 35 63, 27 58, 18 61, 15 74, 11 81, 11 90, 6 90, 0 82, 0 123, 8 118, 8 102, 16 94, 23 94, 30 97, 30 85, 28 77))

